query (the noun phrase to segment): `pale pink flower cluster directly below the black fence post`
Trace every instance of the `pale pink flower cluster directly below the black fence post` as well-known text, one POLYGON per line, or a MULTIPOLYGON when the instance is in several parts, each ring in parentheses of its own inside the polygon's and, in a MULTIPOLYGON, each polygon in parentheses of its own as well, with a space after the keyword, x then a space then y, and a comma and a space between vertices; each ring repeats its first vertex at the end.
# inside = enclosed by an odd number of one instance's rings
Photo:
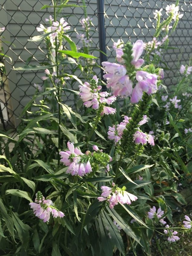
POLYGON ((98 86, 98 78, 96 75, 93 76, 90 83, 85 82, 84 85, 79 85, 79 91, 81 99, 84 101, 83 105, 87 108, 91 107, 93 109, 99 108, 99 103, 103 105, 103 111, 101 115, 106 114, 114 114, 116 112, 115 108, 111 108, 105 106, 105 104, 111 105, 115 100, 115 96, 110 96, 106 98, 109 93, 106 91, 99 92, 101 90, 101 86, 98 86))

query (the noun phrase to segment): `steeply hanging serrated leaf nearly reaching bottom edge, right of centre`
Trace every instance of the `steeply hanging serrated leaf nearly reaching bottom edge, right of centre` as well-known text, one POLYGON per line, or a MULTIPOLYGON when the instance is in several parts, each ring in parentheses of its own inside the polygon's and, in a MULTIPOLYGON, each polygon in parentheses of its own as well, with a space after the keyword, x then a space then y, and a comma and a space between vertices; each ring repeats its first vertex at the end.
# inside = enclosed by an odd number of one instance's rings
POLYGON ((111 235, 113 244, 115 244, 117 246, 117 248, 119 249, 119 251, 124 255, 123 239, 121 237, 121 234, 120 234, 118 228, 114 227, 113 221, 111 220, 111 218, 105 211, 102 211, 101 214, 102 214, 102 221, 104 223, 104 226, 108 227, 108 231, 111 235))

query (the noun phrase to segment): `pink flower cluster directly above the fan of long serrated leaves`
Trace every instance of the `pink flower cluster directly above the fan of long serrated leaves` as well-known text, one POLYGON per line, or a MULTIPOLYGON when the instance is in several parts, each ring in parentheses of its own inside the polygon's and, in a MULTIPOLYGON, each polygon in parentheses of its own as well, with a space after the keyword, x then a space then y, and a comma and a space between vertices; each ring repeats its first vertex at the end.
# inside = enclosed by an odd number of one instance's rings
POLYGON ((102 194, 101 197, 97 199, 102 202, 107 200, 109 202, 109 207, 112 209, 118 203, 121 204, 131 204, 131 201, 136 201, 137 197, 133 194, 125 191, 126 187, 118 188, 117 185, 112 183, 112 188, 107 186, 101 186, 102 194))

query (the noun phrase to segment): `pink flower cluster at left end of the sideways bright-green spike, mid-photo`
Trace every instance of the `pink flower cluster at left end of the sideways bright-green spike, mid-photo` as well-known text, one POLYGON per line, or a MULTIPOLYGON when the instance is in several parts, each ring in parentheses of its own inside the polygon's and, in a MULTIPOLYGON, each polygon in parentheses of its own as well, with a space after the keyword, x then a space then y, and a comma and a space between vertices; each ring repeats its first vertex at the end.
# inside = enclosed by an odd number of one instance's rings
POLYGON ((80 149, 74 148, 73 143, 68 141, 67 143, 68 149, 67 151, 61 151, 59 154, 61 155, 61 162, 63 162, 68 169, 66 173, 71 173, 71 175, 79 175, 84 176, 92 171, 90 161, 82 162, 81 156, 84 154, 80 149))

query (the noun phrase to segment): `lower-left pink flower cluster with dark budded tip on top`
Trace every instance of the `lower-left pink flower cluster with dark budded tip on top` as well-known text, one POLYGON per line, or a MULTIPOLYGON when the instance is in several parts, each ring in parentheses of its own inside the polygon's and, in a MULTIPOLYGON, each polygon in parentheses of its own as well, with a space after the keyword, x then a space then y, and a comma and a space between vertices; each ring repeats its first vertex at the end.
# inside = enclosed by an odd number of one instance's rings
POLYGON ((43 222, 49 221, 50 215, 52 214, 53 218, 63 218, 65 214, 62 211, 59 211, 50 199, 45 200, 45 197, 40 191, 37 192, 35 203, 29 204, 31 209, 36 217, 43 220, 43 222))

